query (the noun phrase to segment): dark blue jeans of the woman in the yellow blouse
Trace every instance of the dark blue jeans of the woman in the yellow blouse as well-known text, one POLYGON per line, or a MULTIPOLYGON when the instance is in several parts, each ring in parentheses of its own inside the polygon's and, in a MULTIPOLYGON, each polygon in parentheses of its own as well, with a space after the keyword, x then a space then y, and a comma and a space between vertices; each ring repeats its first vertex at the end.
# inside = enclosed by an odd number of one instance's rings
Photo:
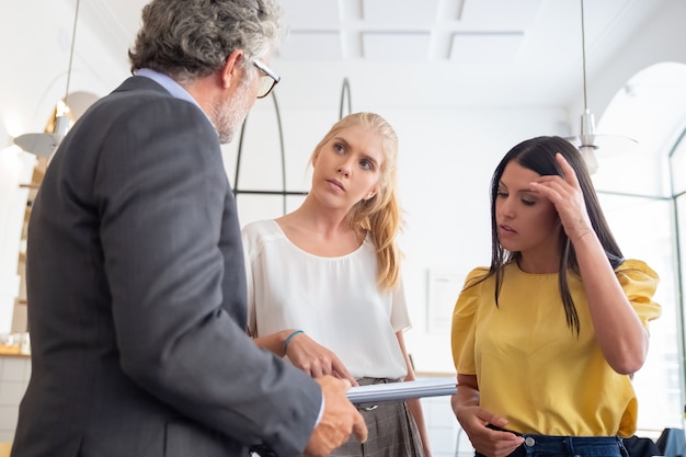
MULTIPOLYGON (((615 436, 548 436, 522 435, 524 444, 512 457, 628 457, 629 454, 615 436)), ((476 453, 477 457, 483 457, 476 453)))

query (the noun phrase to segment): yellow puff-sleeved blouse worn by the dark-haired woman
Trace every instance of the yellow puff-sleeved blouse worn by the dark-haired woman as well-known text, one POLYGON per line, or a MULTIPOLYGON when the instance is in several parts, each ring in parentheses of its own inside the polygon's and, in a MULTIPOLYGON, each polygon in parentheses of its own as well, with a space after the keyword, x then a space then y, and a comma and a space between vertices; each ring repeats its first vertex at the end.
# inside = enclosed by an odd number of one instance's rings
MULTIPOLYGON (((488 273, 471 271, 468 286, 488 273)), ((658 274, 627 260, 615 273, 645 328, 661 315, 652 300, 658 274)), ((495 306, 495 278, 466 287, 453 313, 457 373, 476 375, 480 405, 506 418, 519 433, 565 436, 631 436, 638 402, 629 376, 605 361, 595 341, 581 279, 569 275, 580 333, 567 325, 558 274, 505 267, 495 306)), ((602 330, 601 330, 602 331, 602 330)))

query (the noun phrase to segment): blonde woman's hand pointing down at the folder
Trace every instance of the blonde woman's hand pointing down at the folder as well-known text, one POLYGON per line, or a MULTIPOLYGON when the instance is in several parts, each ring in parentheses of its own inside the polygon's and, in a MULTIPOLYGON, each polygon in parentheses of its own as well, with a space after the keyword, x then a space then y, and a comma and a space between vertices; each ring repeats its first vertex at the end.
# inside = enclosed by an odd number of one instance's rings
POLYGON ((357 386, 357 381, 343 365, 343 362, 333 352, 317 343, 306 333, 298 334, 290 340, 286 347, 286 355, 293 365, 313 378, 331 375, 347 379, 352 386, 357 386))

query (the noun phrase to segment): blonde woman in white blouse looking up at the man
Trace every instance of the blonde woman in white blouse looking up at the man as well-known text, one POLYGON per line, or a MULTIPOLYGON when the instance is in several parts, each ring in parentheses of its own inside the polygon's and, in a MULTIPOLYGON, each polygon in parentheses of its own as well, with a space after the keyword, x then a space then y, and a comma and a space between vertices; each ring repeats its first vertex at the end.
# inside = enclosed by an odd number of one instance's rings
MULTIPOLYGON (((339 121, 317 145, 302 205, 243 228, 249 331, 310 376, 353 385, 414 379, 396 237, 398 138, 374 113, 339 121)), ((418 399, 359 404, 366 443, 333 456, 428 456, 418 399)))

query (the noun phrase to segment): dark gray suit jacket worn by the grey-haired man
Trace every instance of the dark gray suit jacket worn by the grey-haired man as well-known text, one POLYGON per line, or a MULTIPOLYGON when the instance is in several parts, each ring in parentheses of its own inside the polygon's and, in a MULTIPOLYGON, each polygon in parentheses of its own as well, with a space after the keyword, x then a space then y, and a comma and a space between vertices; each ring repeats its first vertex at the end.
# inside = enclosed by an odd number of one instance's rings
POLYGON ((299 454, 321 390, 245 335, 243 265, 211 123, 129 78, 69 132, 33 207, 12 455, 299 454))

